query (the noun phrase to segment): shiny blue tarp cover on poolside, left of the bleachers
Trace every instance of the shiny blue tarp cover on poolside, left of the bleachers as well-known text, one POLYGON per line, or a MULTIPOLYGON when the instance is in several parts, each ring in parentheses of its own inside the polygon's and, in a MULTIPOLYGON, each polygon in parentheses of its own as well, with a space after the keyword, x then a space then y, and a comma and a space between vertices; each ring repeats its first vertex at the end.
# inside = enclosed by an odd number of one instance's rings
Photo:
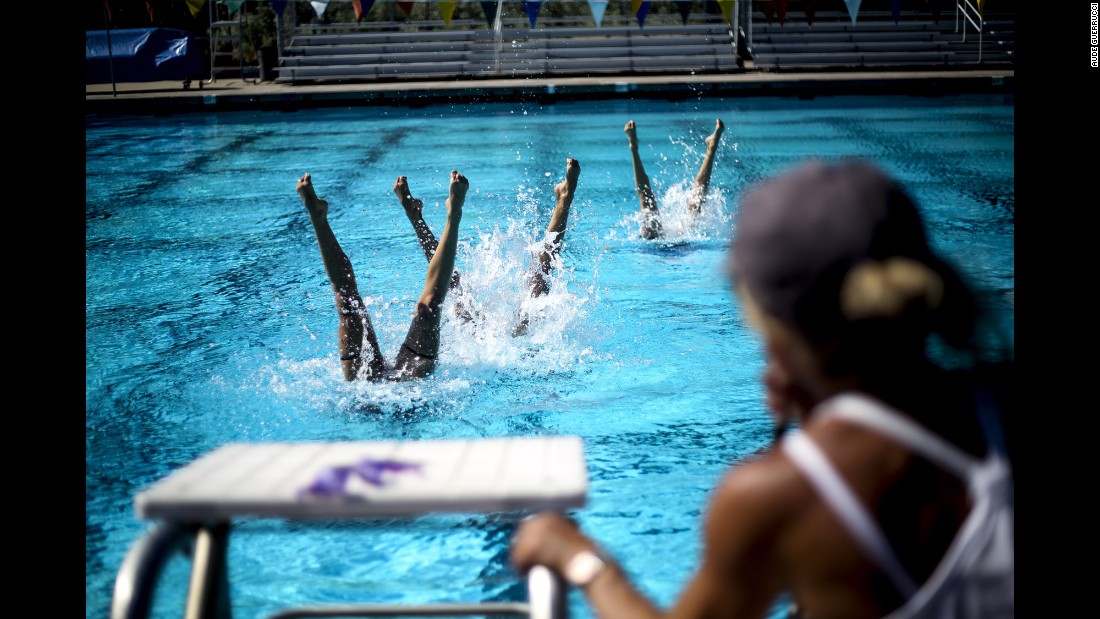
POLYGON ((168 27, 134 27, 85 33, 85 84, 187 80, 202 77, 202 55, 191 33, 168 27), (111 79, 111 68, 114 79, 111 79))

